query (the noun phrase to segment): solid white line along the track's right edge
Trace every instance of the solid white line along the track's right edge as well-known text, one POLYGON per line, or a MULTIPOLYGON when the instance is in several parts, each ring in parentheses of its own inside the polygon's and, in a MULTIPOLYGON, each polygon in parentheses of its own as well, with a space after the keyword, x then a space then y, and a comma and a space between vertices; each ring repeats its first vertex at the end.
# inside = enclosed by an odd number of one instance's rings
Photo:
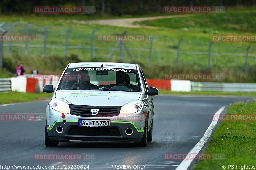
MULTIPOLYGON (((215 120, 219 119, 220 113, 224 110, 225 106, 222 106, 215 114, 214 117, 216 116, 215 120)), ((210 126, 208 127, 208 129, 206 130, 206 132, 204 133, 204 136, 200 139, 200 141, 196 144, 196 146, 194 146, 193 149, 191 149, 188 153, 188 155, 190 156, 189 158, 191 158, 191 156, 193 156, 193 159, 196 157, 196 155, 201 151, 201 149, 203 148, 204 144, 206 144, 206 142, 208 141, 209 137, 212 134, 212 131, 214 129, 214 127, 216 126, 218 121, 212 120, 210 126)), ((188 167, 190 166, 190 164, 192 163, 192 160, 183 160, 180 165, 176 168, 176 170, 184 170, 184 169, 188 169, 188 167)))

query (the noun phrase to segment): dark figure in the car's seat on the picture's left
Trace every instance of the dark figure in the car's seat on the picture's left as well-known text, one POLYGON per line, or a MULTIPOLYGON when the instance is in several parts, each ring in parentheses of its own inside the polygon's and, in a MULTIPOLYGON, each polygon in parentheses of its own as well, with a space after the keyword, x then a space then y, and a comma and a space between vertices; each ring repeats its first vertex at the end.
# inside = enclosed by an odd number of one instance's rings
POLYGON ((79 83, 72 85, 71 89, 99 89, 97 85, 90 83, 90 76, 88 73, 78 73, 79 83))

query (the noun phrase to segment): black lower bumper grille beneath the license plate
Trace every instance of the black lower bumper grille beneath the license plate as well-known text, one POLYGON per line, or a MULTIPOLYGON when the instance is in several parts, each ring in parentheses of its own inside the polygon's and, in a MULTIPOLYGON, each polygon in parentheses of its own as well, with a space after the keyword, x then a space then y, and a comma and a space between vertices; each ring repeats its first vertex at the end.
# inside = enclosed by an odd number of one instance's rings
POLYGON ((86 135, 86 136, 121 136, 117 127, 111 128, 92 128, 71 126, 68 135, 86 135))

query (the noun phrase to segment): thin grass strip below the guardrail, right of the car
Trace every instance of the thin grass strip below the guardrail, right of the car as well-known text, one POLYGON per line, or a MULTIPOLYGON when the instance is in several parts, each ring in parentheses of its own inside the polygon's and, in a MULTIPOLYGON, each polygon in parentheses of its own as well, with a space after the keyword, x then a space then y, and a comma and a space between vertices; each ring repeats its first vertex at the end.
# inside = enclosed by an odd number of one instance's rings
POLYGON ((159 94, 168 95, 204 95, 204 96, 256 96, 256 92, 212 92, 212 91, 201 91, 201 92, 172 92, 167 90, 159 90, 159 94))

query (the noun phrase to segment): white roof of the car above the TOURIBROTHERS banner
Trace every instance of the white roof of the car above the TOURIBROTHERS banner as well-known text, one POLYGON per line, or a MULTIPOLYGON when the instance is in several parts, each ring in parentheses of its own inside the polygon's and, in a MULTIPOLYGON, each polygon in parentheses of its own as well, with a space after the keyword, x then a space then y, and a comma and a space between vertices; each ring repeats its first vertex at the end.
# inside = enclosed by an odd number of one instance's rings
POLYGON ((101 65, 103 65, 103 67, 105 67, 105 68, 136 69, 136 64, 114 63, 114 62, 80 62, 80 63, 70 63, 68 68, 101 67, 101 65))

